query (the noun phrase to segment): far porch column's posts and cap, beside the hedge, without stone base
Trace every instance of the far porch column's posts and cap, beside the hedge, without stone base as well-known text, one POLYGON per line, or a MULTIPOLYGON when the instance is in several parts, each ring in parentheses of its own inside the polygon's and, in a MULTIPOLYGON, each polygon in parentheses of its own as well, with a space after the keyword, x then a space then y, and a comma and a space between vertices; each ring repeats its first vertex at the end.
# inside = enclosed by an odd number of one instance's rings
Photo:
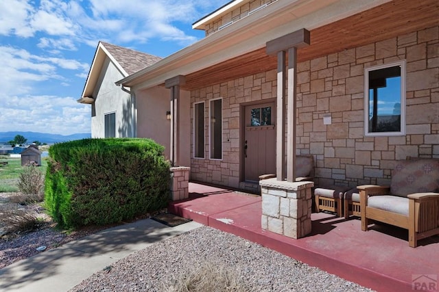
POLYGON ((185 84, 185 76, 178 75, 165 81, 165 88, 171 90, 171 142, 170 155, 171 166, 180 166, 180 85, 185 84))

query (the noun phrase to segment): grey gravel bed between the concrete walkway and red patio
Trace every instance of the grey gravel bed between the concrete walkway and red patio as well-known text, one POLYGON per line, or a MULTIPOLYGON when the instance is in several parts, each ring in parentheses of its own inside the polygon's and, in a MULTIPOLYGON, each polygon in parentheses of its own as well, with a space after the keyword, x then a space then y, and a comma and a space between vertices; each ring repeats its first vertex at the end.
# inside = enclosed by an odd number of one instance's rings
POLYGON ((170 291, 202 263, 232 271, 242 291, 371 291, 207 226, 131 254, 71 291, 170 291))

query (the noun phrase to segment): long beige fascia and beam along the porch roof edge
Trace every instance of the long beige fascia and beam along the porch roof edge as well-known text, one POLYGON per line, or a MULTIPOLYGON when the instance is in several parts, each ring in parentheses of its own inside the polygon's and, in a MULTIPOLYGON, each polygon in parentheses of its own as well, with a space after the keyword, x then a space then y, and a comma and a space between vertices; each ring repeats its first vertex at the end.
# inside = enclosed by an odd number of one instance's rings
POLYGON ((261 49, 269 40, 292 31, 315 29, 389 1, 302 0, 292 4, 290 0, 278 0, 156 64, 117 81, 117 84, 126 84, 137 90, 159 85, 177 75, 188 75, 261 49))

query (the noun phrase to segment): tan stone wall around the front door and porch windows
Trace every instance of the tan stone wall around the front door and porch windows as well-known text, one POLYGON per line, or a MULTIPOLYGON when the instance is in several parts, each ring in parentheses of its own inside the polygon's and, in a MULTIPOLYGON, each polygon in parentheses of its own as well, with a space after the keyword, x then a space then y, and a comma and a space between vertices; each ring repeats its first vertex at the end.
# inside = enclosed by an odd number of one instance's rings
MULTIPOLYGON (((191 119, 193 103, 206 101, 205 157, 209 100, 218 97, 223 98, 223 159, 191 159, 191 179, 239 187, 239 106, 275 98, 276 70, 191 92, 191 119)), ((297 98, 298 154, 314 155, 316 185, 387 184, 395 160, 439 157, 439 27, 300 63, 297 98), (365 137, 364 68, 400 59, 407 62, 406 135, 365 137), (324 125, 328 113, 332 124, 324 125)), ((193 146, 191 157, 192 151, 193 146)))

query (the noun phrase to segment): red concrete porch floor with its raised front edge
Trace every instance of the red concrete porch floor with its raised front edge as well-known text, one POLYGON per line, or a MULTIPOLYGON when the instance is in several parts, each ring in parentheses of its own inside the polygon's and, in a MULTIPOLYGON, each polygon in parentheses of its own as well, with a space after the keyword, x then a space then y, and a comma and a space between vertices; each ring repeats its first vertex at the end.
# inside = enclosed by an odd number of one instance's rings
POLYGON ((364 232, 358 218, 313 213, 312 233, 291 239, 261 229, 260 196, 198 183, 189 183, 189 199, 168 210, 377 291, 412 291, 414 282, 438 289, 439 236, 410 248, 407 230, 379 224, 364 232))

